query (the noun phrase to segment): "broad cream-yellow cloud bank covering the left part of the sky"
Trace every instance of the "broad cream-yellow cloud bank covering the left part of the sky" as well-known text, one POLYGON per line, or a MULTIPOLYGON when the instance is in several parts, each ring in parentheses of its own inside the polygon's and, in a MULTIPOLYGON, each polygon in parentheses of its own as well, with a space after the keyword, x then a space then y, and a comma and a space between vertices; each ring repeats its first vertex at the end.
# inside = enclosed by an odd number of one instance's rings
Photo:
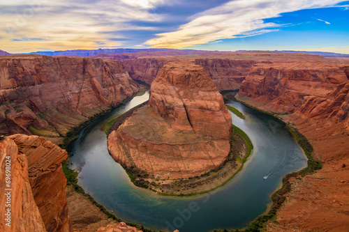
POLYGON ((132 36, 126 38, 125 30, 156 30, 155 26, 138 26, 135 22, 161 22, 163 17, 149 10, 161 3, 163 0, 128 3, 108 0, 1 2, 1 47, 12 52, 35 51, 39 47, 51 49, 62 49, 62 47, 94 49, 105 45, 119 47, 126 44, 126 40, 140 39, 132 36), (135 7, 133 3, 140 5, 135 7))

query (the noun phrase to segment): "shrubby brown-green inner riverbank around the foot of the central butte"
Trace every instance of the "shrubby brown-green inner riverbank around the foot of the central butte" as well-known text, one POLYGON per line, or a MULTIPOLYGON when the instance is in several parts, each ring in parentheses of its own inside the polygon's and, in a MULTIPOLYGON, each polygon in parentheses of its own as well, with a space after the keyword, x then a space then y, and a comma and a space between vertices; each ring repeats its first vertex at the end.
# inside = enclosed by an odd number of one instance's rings
MULTIPOLYGON (((147 103, 142 105, 145 104, 147 103)), ((113 130, 117 130, 119 125, 121 125, 128 116, 131 116, 133 111, 142 107, 142 105, 134 107, 125 114, 112 119, 113 125, 108 129, 109 133, 113 130)), ((110 126, 110 122, 106 124, 103 130, 107 130, 108 126, 110 126)), ((233 126, 230 137, 230 153, 227 160, 221 167, 202 174, 201 176, 175 180, 160 180, 134 167, 131 169, 126 166, 123 167, 134 185, 152 190, 157 194, 166 196, 193 196, 204 194, 223 186, 231 180, 242 169, 244 162, 246 162, 248 156, 251 155, 253 145, 242 130, 233 126)))

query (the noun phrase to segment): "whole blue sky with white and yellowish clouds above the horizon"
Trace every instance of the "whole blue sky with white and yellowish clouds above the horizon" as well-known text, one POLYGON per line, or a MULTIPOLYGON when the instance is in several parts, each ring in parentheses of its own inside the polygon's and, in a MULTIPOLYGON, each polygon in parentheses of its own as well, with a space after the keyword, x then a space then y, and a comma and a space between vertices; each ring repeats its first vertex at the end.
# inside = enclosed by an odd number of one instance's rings
POLYGON ((0 49, 300 50, 349 54, 349 1, 0 0, 0 49))

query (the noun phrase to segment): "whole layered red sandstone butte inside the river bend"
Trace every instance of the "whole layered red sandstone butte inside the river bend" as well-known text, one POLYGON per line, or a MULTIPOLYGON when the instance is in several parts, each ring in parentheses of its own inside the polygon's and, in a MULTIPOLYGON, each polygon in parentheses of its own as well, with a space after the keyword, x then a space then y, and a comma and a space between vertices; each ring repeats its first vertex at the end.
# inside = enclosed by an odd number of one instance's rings
POLYGON ((172 61, 141 107, 108 137, 110 154, 158 179, 200 176, 228 157, 232 119, 200 65, 172 61))

